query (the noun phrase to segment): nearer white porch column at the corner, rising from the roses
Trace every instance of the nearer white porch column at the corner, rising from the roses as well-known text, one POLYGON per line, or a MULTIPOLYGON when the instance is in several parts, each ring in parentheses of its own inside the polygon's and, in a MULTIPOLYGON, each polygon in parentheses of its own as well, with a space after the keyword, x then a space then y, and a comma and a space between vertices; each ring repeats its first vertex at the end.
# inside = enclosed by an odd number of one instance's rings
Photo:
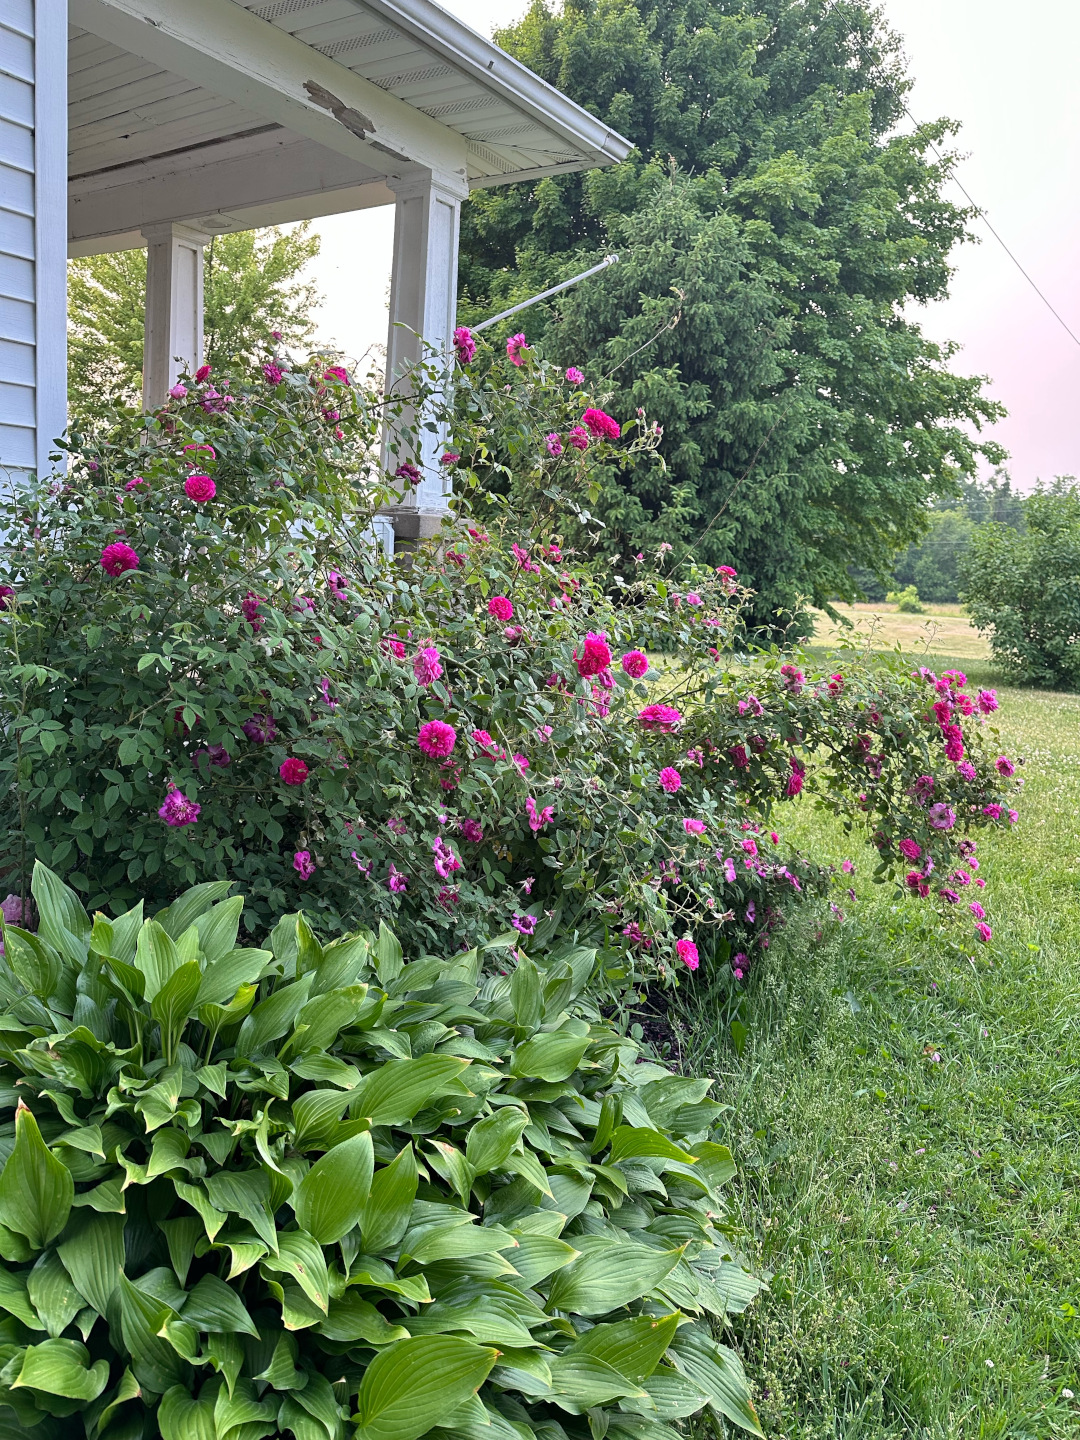
MULTIPOLYGON (((446 363, 454 334, 458 291, 458 228, 468 186, 461 176, 432 173, 390 180, 395 206, 390 330, 386 343, 387 396, 408 395, 409 367, 425 356, 446 363), (433 354, 432 354, 433 351, 433 354)), ((405 425, 415 423, 406 410, 405 425)), ((383 464, 393 472, 402 461, 420 469, 422 480, 392 510, 395 534, 415 541, 438 533, 446 516, 449 481, 439 465, 445 433, 420 429, 400 433, 389 419, 383 435, 383 464), (397 452, 393 452, 397 445, 397 452)))

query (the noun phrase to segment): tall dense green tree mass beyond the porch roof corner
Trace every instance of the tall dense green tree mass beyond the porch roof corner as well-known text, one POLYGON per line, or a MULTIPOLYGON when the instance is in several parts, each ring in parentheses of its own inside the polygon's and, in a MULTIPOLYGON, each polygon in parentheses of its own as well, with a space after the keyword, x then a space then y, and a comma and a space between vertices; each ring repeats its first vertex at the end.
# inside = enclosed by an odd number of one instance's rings
POLYGON ((953 127, 896 132, 896 37, 825 0, 534 0, 498 40, 638 145, 484 192, 462 229, 465 318, 619 253, 528 317, 664 426, 667 474, 608 477, 600 550, 734 564, 763 624, 854 596, 852 563, 887 575, 930 498, 1002 458, 982 379, 912 318, 969 215, 935 156, 953 127))

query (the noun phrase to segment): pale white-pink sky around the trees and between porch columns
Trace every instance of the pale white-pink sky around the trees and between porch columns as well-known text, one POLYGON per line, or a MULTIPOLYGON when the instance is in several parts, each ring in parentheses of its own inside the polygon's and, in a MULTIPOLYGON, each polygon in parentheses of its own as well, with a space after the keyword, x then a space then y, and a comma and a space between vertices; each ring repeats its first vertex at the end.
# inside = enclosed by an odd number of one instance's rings
MULTIPOLYGON (((444 0, 475 30, 514 20, 526 0, 444 0)), ((883 0, 904 42, 916 120, 962 125, 958 177, 1024 269, 1080 336, 1080 4, 1077 0, 883 0)), ((950 187, 950 197, 963 203, 950 187)), ((392 209, 317 220, 312 275, 325 297, 318 338, 359 359, 386 343, 392 209), (357 279, 360 276, 360 279, 357 279)), ((1068 337, 981 220, 955 256, 950 297, 917 311, 952 366, 991 377, 1008 419, 989 431, 1022 490, 1080 475, 1080 344, 1068 337)))

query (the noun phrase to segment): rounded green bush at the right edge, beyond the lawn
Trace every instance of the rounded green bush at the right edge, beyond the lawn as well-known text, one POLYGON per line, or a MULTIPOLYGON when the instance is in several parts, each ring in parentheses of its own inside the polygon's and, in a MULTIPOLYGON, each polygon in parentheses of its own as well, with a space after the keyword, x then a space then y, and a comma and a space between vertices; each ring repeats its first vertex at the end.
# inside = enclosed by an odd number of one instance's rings
POLYGON ((1024 501, 1024 531, 975 528, 962 564, 972 624, 1024 684, 1080 688, 1080 487, 1058 480, 1024 501))

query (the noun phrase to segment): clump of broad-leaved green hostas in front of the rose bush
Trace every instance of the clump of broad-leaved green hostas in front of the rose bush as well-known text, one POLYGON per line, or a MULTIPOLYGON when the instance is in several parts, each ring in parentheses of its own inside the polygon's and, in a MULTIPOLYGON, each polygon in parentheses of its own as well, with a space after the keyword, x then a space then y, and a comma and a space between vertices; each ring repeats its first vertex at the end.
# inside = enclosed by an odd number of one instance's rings
POLYGON ((91 922, 39 867, 40 935, 4 926, 6 1433, 760 1434, 713 1335, 760 1287, 721 1107, 600 1018, 596 953, 484 973, 297 914, 251 950, 229 888, 91 922))

